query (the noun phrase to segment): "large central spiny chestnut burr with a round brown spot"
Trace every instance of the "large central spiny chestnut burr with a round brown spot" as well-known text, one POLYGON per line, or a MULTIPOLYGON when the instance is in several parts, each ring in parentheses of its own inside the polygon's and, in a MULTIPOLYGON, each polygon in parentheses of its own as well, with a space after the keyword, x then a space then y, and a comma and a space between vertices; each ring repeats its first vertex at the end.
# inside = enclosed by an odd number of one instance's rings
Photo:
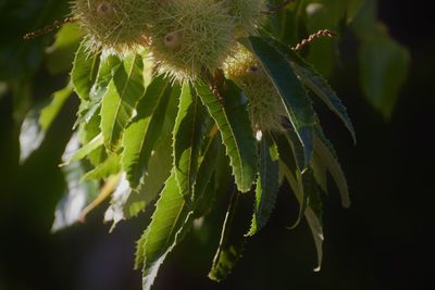
POLYGON ((162 1, 150 26, 150 50, 161 73, 194 79, 220 67, 233 47, 234 27, 222 1, 162 1))

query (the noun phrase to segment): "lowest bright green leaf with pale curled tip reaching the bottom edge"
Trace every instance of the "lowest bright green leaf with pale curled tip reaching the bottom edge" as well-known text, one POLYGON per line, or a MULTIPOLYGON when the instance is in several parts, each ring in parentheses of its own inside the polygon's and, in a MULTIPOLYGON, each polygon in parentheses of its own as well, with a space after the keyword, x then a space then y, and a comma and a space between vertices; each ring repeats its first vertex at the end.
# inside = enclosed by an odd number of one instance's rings
POLYGON ((156 205, 151 224, 138 242, 141 248, 137 254, 142 257, 138 256, 137 262, 144 263, 144 290, 151 288, 160 265, 189 229, 190 215, 191 211, 179 193, 175 174, 172 173, 156 205))

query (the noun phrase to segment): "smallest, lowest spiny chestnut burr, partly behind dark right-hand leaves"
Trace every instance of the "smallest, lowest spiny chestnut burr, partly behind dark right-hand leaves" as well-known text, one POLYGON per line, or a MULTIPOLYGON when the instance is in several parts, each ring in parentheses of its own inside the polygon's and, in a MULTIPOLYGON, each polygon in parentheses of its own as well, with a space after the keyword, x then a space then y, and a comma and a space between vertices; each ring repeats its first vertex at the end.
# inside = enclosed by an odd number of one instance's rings
POLYGON ((243 88, 249 99, 248 112, 253 131, 283 130, 286 111, 283 102, 254 56, 244 47, 237 46, 234 55, 224 64, 225 76, 243 88))

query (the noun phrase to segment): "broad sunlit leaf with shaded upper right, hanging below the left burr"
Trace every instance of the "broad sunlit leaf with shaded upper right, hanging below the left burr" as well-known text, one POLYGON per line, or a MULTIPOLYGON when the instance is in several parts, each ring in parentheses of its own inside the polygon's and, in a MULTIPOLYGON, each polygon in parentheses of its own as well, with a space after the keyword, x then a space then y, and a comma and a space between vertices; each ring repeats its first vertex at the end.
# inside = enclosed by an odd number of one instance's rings
POLYGON ((139 54, 130 53, 116 70, 101 104, 101 131, 104 146, 115 151, 124 129, 130 122, 137 102, 142 98, 144 62, 139 54))

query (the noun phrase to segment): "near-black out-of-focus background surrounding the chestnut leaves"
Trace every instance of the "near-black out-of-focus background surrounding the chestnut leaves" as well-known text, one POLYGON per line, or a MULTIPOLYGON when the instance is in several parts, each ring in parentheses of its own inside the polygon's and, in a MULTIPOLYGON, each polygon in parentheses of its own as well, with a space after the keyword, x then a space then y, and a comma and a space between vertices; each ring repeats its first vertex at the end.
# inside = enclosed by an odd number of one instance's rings
MULTIPOLYGON (((293 231, 285 228, 295 219, 296 209, 288 205, 291 196, 282 190, 268 227, 247 244, 226 281, 207 278, 215 244, 203 244, 194 235, 169 256, 153 289, 435 289, 433 10, 430 1, 378 2, 380 17, 409 48, 412 65, 389 122, 361 96, 352 52, 333 77, 332 85, 355 123, 358 144, 352 147, 337 119, 322 115, 352 194, 349 210, 339 206, 335 190, 324 199, 322 272, 312 272, 315 252, 307 225, 293 231)), ((42 84, 51 81, 39 77, 42 84)), ((45 209, 53 206, 62 181, 57 163, 44 161, 61 154, 67 133, 54 126, 50 136, 57 142, 47 142, 29 168, 17 168, 11 106, 11 98, 0 100, 0 290, 140 289, 140 273, 132 269, 134 241, 149 213, 108 234, 99 210, 85 225, 51 235, 52 213, 45 209), (49 186, 42 182, 47 176, 52 178, 49 186), (51 193, 51 203, 40 196, 51 193)), ((72 122, 73 113, 64 112, 59 124, 72 122)))

